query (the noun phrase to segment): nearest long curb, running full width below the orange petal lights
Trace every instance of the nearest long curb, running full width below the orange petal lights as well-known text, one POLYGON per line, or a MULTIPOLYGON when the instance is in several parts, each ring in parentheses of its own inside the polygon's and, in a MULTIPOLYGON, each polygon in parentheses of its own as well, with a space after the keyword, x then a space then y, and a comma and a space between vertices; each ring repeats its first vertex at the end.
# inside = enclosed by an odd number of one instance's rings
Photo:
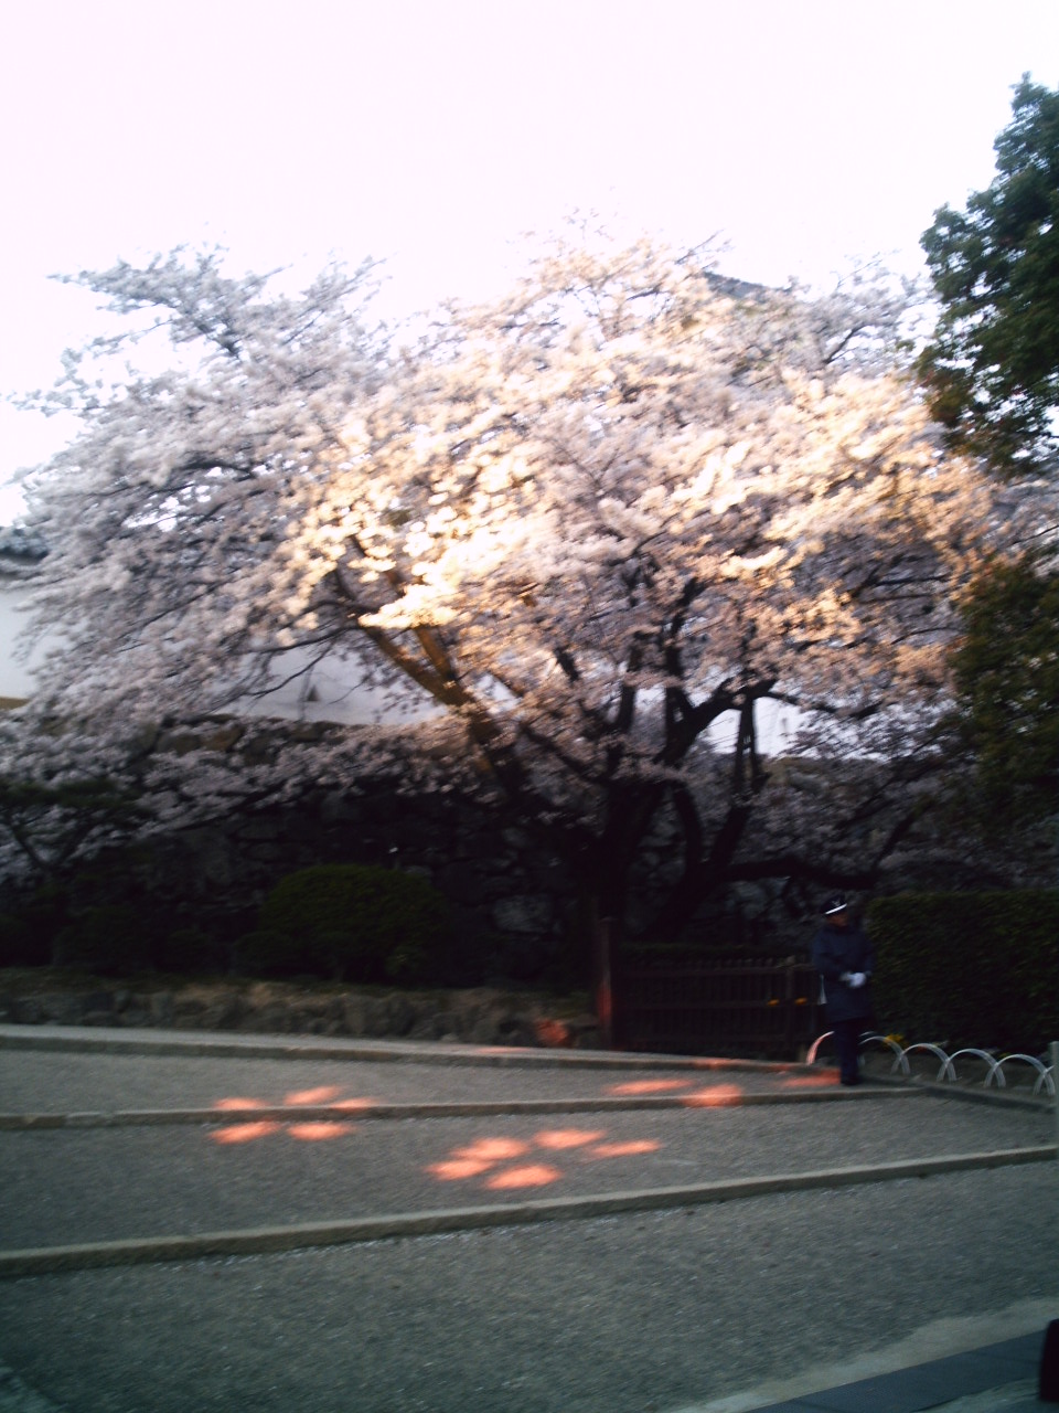
POLYGON ((487 1207, 400 1212, 352 1221, 298 1222, 288 1226, 260 1226, 240 1231, 203 1232, 193 1236, 127 1238, 68 1246, 37 1246, 0 1252, 0 1279, 38 1276, 54 1272, 89 1270, 100 1266, 157 1265, 202 1260, 216 1256, 258 1256, 316 1246, 342 1246, 409 1236, 438 1236, 490 1226, 525 1226, 535 1222, 578 1221, 621 1212, 662 1211, 730 1202, 778 1193, 891 1183, 908 1177, 933 1177, 1022 1163, 1053 1163, 1058 1152, 1045 1147, 995 1149, 988 1153, 956 1153, 945 1157, 905 1159, 861 1167, 822 1169, 810 1173, 781 1173, 771 1177, 726 1178, 692 1187, 655 1187, 640 1191, 600 1193, 593 1197, 538 1198, 527 1202, 497 1202, 487 1207))

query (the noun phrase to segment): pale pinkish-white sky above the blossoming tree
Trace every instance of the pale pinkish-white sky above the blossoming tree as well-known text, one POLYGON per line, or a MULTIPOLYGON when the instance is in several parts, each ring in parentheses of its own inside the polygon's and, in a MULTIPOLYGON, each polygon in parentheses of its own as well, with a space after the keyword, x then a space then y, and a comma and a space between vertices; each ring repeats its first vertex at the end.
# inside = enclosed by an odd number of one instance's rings
MULTIPOLYGON (((993 175, 1024 71, 1059 86, 1056 0, 58 0, 6 17, 0 396, 92 328, 54 271, 179 243, 239 268, 387 257, 394 311, 503 278, 594 208, 714 233, 726 268, 921 268, 993 175)), ((0 483, 59 430, 0 407, 0 483)), ((0 521, 17 503, 0 493, 0 521)))

